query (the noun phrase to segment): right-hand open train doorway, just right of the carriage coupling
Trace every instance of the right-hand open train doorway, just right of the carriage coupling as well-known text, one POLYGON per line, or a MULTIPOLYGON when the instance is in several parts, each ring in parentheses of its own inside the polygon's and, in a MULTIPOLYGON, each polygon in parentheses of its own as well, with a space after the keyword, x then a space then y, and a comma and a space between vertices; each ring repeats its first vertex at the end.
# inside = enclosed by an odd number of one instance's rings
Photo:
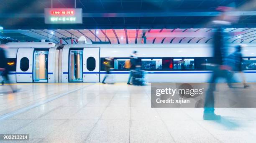
POLYGON ((82 82, 83 81, 83 50, 70 50, 69 51, 69 82, 82 82))

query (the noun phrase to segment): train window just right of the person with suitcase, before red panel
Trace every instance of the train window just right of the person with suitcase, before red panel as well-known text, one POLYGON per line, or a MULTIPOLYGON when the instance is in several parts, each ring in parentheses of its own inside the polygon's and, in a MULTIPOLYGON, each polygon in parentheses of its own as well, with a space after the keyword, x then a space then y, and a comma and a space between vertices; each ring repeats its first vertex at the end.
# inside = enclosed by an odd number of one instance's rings
POLYGON ((162 59, 141 59, 141 68, 143 70, 163 69, 162 59))

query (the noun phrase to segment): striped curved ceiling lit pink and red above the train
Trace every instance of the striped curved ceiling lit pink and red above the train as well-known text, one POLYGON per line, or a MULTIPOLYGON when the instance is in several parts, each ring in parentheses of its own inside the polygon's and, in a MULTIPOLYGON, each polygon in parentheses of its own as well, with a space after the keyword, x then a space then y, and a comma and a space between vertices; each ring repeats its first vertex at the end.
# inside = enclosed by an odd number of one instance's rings
MULTIPOLYGON (((108 30, 4 30, 6 37, 21 42, 48 39, 59 43, 60 38, 84 36, 87 43, 109 42, 110 44, 177 44, 177 43, 210 43, 212 28, 189 29, 108 29, 108 30), (146 41, 144 41, 146 40, 146 41)), ((226 28, 230 34, 226 40, 230 43, 256 43, 256 28, 226 28)), ((75 40, 76 41, 76 40, 75 40)), ((63 40, 63 44, 71 44, 71 40, 63 40)))

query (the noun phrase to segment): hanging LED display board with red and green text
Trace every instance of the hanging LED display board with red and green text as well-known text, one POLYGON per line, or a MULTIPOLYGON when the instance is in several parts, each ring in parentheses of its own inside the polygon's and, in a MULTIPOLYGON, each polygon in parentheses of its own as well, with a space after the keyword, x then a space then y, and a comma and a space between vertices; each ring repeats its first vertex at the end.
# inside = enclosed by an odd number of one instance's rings
POLYGON ((82 8, 45 8, 45 24, 82 24, 82 8))

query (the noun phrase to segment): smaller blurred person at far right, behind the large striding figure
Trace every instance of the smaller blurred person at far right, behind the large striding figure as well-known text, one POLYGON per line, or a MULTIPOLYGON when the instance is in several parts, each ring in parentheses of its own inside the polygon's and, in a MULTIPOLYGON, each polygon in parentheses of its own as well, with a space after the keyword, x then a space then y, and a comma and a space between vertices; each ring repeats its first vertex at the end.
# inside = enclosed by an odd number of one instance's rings
POLYGON ((231 64, 232 71, 234 74, 235 72, 239 72, 242 76, 243 80, 243 87, 246 88, 248 85, 246 84, 246 78, 244 76, 244 73, 242 71, 242 54, 241 49, 243 48, 243 45, 236 46, 236 51, 229 56, 229 63, 231 64))

